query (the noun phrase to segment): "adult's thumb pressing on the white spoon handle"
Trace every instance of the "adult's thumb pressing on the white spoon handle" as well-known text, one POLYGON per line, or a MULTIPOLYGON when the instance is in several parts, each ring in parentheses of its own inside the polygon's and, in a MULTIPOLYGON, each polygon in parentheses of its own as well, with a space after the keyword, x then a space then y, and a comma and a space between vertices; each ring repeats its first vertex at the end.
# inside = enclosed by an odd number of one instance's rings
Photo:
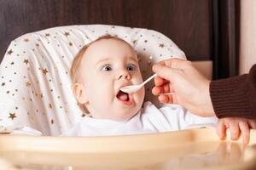
POLYGON ((179 71, 178 69, 167 67, 165 65, 153 65, 152 70, 158 77, 164 78, 170 82, 177 76, 177 71, 179 71))

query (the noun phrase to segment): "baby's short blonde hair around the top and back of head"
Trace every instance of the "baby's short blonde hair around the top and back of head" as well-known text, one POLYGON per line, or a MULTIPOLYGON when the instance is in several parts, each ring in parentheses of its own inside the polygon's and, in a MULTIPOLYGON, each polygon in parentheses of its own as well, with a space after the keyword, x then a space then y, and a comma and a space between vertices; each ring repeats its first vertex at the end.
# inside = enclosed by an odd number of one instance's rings
MULTIPOLYGON (((121 38, 119 38, 117 36, 113 37, 111 35, 104 35, 102 37, 98 37, 95 41, 90 42, 90 43, 84 45, 84 47, 81 48, 79 50, 79 53, 76 54, 76 56, 74 57, 73 63, 72 63, 72 66, 71 66, 70 77, 71 77, 71 80, 72 80, 73 84, 75 84, 76 82, 79 82, 79 76, 78 76, 79 66, 81 64, 81 60, 83 59, 83 55, 84 55, 86 49, 89 48, 90 45, 93 44, 94 42, 98 42, 98 41, 103 40, 103 39, 116 39, 116 40, 125 42, 125 40, 123 40, 123 39, 121 39, 121 38)), ((127 43, 129 46, 131 46, 128 42, 125 42, 125 43, 127 43)), ((83 111, 84 114, 87 114, 87 115, 89 114, 89 111, 87 110, 85 105, 82 105, 79 102, 78 102, 78 105, 79 105, 80 109, 83 111)))

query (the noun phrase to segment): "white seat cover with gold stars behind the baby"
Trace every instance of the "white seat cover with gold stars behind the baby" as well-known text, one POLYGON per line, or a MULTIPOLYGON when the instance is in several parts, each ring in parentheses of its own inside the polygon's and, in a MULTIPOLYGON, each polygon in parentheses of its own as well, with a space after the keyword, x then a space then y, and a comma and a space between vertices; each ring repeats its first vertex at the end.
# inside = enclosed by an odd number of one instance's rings
MULTIPOLYGON (((59 135, 84 116, 73 96, 69 70, 85 44, 103 35, 124 39, 135 48, 143 79, 155 62, 185 54, 158 31, 124 26, 61 26, 25 34, 12 41, 0 65, 0 133, 20 127, 59 135)), ((145 87, 146 100, 158 105, 145 87)), ((21 128, 22 129, 22 128, 21 128)))

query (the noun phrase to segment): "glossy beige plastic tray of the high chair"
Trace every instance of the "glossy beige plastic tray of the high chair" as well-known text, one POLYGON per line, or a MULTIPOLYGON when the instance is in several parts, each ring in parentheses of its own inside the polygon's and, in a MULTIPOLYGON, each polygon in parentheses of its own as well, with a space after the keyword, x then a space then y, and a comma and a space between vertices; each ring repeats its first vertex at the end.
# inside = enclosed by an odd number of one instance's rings
POLYGON ((256 130, 247 146, 215 128, 108 137, 0 135, 0 156, 29 169, 256 168, 256 130))

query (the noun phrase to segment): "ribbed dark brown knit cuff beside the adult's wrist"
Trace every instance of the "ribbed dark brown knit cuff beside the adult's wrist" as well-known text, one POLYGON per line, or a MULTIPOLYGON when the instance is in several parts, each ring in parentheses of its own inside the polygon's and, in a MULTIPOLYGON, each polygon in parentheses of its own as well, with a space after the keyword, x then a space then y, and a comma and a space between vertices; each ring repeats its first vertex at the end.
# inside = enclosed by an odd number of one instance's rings
POLYGON ((218 118, 251 116, 252 111, 247 96, 246 78, 247 75, 242 75, 210 83, 212 105, 218 118))

